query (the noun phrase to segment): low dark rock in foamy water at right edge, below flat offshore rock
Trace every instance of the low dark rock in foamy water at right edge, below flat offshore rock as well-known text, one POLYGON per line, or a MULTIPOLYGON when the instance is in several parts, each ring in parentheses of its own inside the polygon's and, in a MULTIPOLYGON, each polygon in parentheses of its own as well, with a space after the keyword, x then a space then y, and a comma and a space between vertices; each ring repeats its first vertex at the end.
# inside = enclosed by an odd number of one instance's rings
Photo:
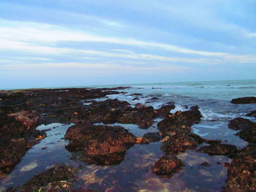
POLYGON ((235 118, 233 120, 230 120, 228 124, 228 128, 232 128, 233 130, 241 130, 253 127, 256 127, 256 124, 244 118, 235 118))

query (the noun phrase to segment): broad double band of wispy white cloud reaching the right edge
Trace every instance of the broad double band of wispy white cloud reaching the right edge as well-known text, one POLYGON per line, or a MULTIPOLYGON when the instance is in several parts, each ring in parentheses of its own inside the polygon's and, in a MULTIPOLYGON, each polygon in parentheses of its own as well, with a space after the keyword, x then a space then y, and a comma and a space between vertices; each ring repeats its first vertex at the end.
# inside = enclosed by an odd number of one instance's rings
POLYGON ((37 54, 72 54, 83 53, 86 55, 100 55, 113 58, 134 58, 143 60, 158 60, 184 63, 205 63, 216 64, 218 59, 237 63, 250 63, 256 61, 254 55, 234 55, 230 53, 215 53, 201 50, 193 50, 186 47, 167 45, 159 42, 145 42, 137 39, 124 39, 117 37, 103 37, 100 35, 88 34, 85 31, 72 31, 68 28, 60 28, 42 23, 28 23, 15 21, 6 26, 0 26, 0 50, 19 50, 21 52, 37 54), (15 27, 14 27, 15 26, 15 27), (59 47, 59 42, 100 42, 114 45, 129 45, 142 47, 145 50, 167 50, 171 53, 182 53, 187 55, 199 55, 202 58, 166 57, 152 54, 136 54, 130 50, 113 50, 113 52, 86 50, 72 47, 59 47), (115 53, 118 52, 118 53, 115 53), (209 57, 209 58, 207 58, 209 57))

